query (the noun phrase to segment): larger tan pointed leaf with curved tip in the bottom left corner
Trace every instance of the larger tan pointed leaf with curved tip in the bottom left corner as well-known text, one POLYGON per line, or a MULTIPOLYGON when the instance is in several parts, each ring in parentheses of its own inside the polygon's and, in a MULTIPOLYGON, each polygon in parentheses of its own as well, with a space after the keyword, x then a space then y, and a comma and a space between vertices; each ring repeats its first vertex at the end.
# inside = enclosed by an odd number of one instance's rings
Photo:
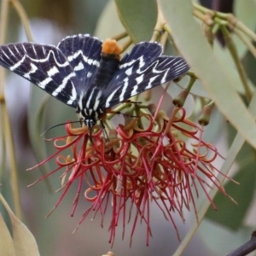
MULTIPOLYGON (((11 220, 13 229, 13 242, 15 247, 15 254, 19 256, 39 256, 38 245, 35 241, 32 233, 26 228, 18 218, 16 218, 14 212, 10 209, 8 203, 4 200, 3 196, 0 195, 0 200, 3 206, 9 213, 9 218, 11 220)), ((2 230, 1 230, 2 233, 2 230)), ((2 235, 1 235, 2 236, 2 235)))

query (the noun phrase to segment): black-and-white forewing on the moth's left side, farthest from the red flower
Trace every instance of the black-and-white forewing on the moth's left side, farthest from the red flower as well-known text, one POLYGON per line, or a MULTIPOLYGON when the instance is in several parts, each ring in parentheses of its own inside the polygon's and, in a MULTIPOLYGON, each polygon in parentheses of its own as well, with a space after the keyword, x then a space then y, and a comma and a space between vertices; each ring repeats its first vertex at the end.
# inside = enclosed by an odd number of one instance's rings
POLYGON ((51 96, 76 108, 76 74, 53 45, 20 43, 0 46, 0 65, 38 85, 51 96))

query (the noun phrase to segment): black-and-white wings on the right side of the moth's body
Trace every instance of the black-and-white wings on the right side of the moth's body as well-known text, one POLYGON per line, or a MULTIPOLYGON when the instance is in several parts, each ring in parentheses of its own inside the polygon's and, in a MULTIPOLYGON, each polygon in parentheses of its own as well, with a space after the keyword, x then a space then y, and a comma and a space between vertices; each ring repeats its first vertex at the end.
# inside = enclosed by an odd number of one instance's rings
POLYGON ((161 55, 161 52, 160 44, 143 42, 125 55, 118 71, 104 90, 105 108, 177 79, 189 70, 182 57, 161 55))

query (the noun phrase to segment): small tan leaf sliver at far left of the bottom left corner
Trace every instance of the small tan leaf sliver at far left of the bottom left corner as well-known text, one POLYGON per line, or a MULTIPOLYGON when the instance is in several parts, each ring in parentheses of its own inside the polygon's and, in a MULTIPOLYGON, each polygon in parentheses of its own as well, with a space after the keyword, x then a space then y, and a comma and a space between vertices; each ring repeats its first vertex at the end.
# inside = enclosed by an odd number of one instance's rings
POLYGON ((9 230, 0 214, 0 253, 5 256, 15 256, 15 247, 9 230))

